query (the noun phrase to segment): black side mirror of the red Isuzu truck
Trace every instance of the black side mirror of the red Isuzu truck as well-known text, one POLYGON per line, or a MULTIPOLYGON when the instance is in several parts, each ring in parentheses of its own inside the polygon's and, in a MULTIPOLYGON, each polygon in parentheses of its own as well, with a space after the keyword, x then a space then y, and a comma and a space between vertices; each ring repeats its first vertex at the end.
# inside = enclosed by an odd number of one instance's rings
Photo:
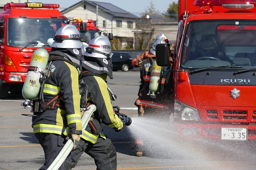
POLYGON ((157 44, 156 45, 156 60, 157 65, 159 66, 167 66, 170 64, 169 62, 169 50, 168 45, 166 43, 157 44))

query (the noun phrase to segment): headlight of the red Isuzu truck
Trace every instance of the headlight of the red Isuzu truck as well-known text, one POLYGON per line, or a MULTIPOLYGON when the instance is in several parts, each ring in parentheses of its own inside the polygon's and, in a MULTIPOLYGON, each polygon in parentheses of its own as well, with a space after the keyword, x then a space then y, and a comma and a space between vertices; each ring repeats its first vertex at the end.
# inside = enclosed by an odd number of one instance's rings
POLYGON ((179 120, 200 120, 197 109, 190 107, 184 103, 181 103, 177 100, 175 100, 174 104, 174 117, 179 120))

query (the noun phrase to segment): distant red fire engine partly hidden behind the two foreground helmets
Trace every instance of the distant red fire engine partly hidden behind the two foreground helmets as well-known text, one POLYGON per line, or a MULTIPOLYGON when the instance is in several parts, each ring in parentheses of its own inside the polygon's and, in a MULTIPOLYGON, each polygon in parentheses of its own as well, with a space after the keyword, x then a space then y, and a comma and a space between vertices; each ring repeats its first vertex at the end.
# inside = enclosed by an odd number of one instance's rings
POLYGON ((72 18, 70 19, 70 24, 74 25, 77 27, 77 29, 80 32, 81 35, 81 41, 86 42, 87 44, 95 37, 98 37, 103 34, 103 36, 106 36, 109 38, 109 40, 113 40, 113 34, 106 32, 106 31, 101 31, 99 30, 92 19, 85 19, 83 20, 82 18, 72 18))

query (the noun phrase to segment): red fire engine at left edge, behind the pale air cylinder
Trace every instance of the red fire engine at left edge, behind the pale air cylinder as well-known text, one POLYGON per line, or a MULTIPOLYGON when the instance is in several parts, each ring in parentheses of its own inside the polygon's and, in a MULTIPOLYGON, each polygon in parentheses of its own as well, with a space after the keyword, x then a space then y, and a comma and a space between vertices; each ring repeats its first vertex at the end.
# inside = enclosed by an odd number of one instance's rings
POLYGON ((7 3, 0 11, 0 99, 21 93, 33 52, 50 51, 56 31, 68 23, 58 4, 7 3))

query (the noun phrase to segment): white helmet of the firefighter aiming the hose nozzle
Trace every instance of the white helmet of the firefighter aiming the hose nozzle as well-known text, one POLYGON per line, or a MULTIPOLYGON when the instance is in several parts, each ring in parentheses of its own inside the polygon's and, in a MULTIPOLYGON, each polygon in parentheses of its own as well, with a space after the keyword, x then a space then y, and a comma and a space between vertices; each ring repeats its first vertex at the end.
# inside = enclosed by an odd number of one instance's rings
POLYGON ((83 55, 96 58, 111 58, 113 53, 111 52, 110 40, 105 36, 98 36, 92 39, 83 55))

